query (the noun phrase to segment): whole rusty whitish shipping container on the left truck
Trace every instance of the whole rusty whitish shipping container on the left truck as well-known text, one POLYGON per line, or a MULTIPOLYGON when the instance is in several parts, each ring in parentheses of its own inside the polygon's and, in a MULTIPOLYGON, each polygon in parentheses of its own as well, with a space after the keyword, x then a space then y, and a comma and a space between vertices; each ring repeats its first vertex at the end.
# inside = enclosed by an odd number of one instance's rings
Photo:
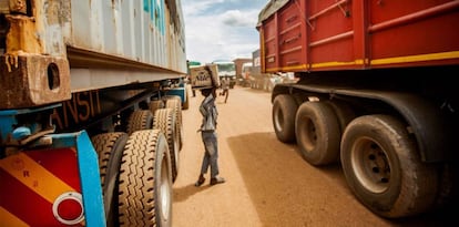
POLYGON ((0 109, 186 74, 180 0, 21 2, 0 4, 0 109))

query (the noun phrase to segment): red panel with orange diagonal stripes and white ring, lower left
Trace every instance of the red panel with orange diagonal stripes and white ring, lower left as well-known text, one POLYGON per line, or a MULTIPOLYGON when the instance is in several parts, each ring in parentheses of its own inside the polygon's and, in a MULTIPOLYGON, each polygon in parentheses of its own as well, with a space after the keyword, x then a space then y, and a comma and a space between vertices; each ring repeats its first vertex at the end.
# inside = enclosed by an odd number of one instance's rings
POLYGON ((29 151, 0 161, 0 226, 84 226, 76 152, 29 151))

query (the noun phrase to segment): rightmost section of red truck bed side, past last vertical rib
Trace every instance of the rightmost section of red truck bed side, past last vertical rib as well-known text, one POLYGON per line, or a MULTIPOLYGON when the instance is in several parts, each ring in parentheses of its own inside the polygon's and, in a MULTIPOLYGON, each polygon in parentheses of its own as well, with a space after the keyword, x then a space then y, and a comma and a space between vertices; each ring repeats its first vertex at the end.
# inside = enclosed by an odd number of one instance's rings
POLYGON ((459 51, 458 1, 375 1, 369 9, 374 66, 440 64, 459 51))

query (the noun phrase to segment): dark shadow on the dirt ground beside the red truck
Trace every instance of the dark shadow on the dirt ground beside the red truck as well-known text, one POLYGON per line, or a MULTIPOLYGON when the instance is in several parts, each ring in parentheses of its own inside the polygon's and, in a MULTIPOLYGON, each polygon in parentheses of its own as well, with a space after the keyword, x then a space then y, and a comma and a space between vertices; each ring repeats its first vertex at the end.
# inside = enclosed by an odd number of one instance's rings
POLYGON ((227 143, 266 226, 317 226, 329 220, 347 226, 361 217, 369 217, 369 223, 361 219, 357 226, 459 226, 447 210, 397 220, 369 214, 348 189, 339 164, 316 168, 302 158, 295 144, 280 143, 274 133, 234 136, 227 143))

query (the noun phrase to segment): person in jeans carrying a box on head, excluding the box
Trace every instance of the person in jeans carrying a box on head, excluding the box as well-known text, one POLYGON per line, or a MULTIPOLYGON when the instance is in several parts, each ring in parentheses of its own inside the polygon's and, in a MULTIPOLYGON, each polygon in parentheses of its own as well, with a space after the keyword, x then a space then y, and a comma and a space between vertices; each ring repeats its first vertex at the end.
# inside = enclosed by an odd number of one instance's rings
POLYGON ((218 143, 216 134, 218 112, 215 106, 215 86, 201 90, 201 93, 204 96, 204 100, 200 105, 203 122, 198 131, 203 138, 205 152, 201 166, 201 174, 197 182, 194 184, 196 187, 204 184, 204 175, 207 173, 208 167, 211 167, 211 185, 225 183, 225 179, 218 176, 218 143))

